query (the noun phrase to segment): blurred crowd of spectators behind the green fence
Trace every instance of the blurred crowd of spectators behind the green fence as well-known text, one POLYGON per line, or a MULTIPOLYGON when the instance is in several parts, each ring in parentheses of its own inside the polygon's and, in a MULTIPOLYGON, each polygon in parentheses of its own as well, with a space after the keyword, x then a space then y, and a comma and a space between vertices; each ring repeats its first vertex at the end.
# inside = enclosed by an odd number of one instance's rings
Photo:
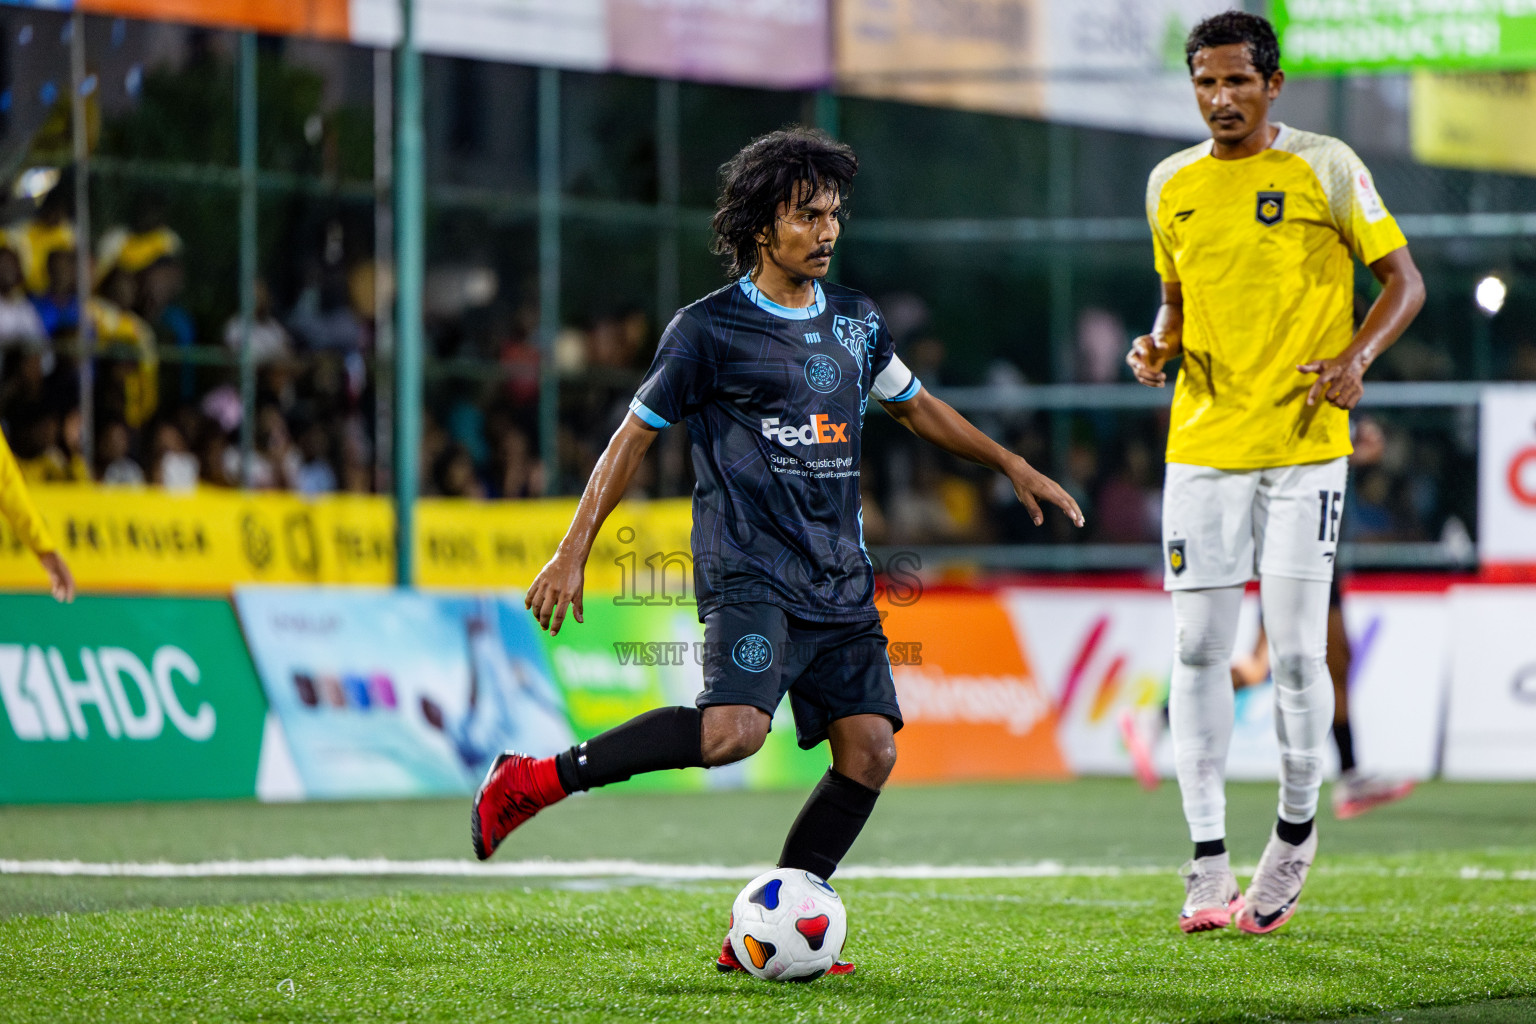
MULTIPOLYGON (((0 425, 29 481, 169 490, 249 484, 304 494, 389 490, 387 459, 376 447, 369 264, 318 264, 283 313, 266 284, 257 282, 249 327, 257 411, 246 467, 240 318, 230 315, 217 338, 198 336, 181 306, 189 258, 158 204, 146 203, 134 223, 104 232, 81 261, 60 192, 0 232, 0 425), (86 324, 94 338, 89 465, 80 410, 81 266, 91 275, 86 324)), ((955 382, 948 379, 945 342, 928 329, 920 302, 892 296, 888 306, 900 350, 919 376, 929 387, 955 382)), ((642 310, 628 307, 559 335, 558 457, 547 464, 538 444, 536 322, 536 309, 508 309, 470 344, 462 341, 462 324, 429 321, 433 355, 459 367, 429 381, 422 494, 516 499, 581 490, 625 415, 656 330, 642 310)), ((1078 381, 1123 381, 1124 325, 1086 310, 1077 333, 1078 381)), ((1419 355, 1405 342, 1404 358, 1419 355)), ((1516 347, 1511 372, 1536 378, 1536 344, 1516 347)), ((983 382, 1025 379, 997 361, 983 382)), ((1021 410, 977 422, 1058 479, 1083 505, 1091 528, 1066 530, 1064 522, 1034 528, 1006 481, 920 445, 877 416, 863 462, 871 543, 1158 539, 1166 430, 1160 415, 1021 410)), ((1353 536, 1435 539, 1447 514, 1439 471, 1445 445, 1390 427, 1378 433, 1376 454, 1356 468, 1352 487, 1353 536)), ((693 474, 685 431, 667 431, 654 453, 636 477, 636 494, 687 494, 693 474)))

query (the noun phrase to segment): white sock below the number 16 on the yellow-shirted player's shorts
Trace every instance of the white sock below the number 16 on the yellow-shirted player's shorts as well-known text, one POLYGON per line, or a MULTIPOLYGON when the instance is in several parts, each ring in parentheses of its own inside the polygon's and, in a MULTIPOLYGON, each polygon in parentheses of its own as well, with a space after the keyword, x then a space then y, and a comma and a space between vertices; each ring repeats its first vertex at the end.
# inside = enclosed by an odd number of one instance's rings
POLYGON ((1322 754, 1333 728, 1333 677, 1329 676, 1327 660, 1329 585, 1266 576, 1260 600, 1275 677, 1279 818, 1301 824, 1318 814, 1322 754))

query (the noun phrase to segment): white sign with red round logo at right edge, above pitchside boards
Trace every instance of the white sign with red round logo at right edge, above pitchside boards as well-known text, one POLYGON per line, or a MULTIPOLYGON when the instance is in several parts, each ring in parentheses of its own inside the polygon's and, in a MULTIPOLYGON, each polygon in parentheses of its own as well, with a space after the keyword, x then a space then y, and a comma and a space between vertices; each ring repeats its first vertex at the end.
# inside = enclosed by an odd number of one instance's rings
POLYGON ((1482 390, 1478 438, 1478 556, 1536 565, 1536 385, 1482 390))

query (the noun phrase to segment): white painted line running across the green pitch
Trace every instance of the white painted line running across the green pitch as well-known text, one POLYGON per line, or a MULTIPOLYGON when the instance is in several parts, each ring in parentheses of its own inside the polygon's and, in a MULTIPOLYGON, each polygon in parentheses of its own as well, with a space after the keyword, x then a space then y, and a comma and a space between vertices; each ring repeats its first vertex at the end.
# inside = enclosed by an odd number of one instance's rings
MULTIPOLYGON (((654 881, 739 881, 754 878, 770 864, 656 864, 634 860, 525 860, 478 864, 467 860, 387 860, 355 857, 280 857, 269 860, 214 860, 200 863, 89 863, 78 860, 0 860, 0 875, 52 875, 74 878, 339 878, 418 875, 435 878, 641 878, 654 881)), ((1252 874, 1253 866, 1238 866, 1252 874)), ((1416 867, 1381 869, 1349 864, 1318 866, 1319 874, 1390 877, 1441 875, 1465 881, 1536 881, 1536 870, 1461 867, 1428 872, 1416 867)), ((1166 867, 1117 867, 1104 864, 849 864, 837 878, 937 881, 949 878, 1121 878, 1167 875, 1166 867)))

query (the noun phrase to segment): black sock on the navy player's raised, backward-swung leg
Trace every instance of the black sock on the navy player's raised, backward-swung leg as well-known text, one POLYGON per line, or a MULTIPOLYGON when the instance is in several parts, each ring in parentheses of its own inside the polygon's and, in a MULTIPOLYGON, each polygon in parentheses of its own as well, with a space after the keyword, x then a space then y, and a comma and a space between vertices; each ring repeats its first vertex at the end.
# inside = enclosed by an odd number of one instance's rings
POLYGON ((697 708, 647 711, 554 755, 565 792, 667 768, 703 768, 703 714, 697 708))

